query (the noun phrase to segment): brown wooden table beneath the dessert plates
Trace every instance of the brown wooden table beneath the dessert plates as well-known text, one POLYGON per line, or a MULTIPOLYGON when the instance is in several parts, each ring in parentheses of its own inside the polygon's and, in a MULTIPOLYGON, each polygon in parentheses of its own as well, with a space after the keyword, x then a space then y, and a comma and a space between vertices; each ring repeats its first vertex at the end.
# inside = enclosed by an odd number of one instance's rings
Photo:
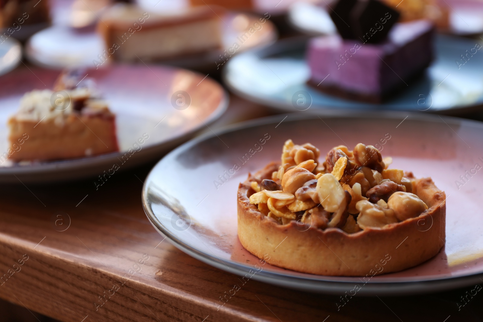
MULTIPOLYGON (((212 128, 266 113, 232 99, 212 128)), ((355 295, 338 310, 339 296, 250 280, 218 308, 238 276, 177 250, 151 226, 141 188, 152 166, 118 173, 97 191, 92 180, 0 187, 0 297, 65 322, 481 321, 483 294, 456 304, 474 287, 355 295)))

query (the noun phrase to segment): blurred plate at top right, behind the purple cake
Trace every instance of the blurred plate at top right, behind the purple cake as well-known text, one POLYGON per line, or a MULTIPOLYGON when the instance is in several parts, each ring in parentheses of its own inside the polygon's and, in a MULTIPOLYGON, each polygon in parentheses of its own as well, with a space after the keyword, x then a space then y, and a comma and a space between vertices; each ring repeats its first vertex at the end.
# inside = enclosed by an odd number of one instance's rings
MULTIPOLYGON (((444 1, 446 2, 446 1, 444 1)), ((448 0, 449 33, 474 35, 483 32, 483 3, 475 0, 448 0)), ((332 6, 332 5, 331 5, 332 6)), ((317 5, 298 2, 290 6, 288 20, 292 26, 308 34, 335 33, 336 28, 328 15, 327 3, 317 5)))

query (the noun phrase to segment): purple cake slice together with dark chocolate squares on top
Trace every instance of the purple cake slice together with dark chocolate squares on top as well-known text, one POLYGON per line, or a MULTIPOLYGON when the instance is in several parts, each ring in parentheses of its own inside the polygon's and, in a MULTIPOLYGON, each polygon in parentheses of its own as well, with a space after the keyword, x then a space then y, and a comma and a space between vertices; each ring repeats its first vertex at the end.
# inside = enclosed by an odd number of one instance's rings
POLYGON ((372 103, 406 88, 433 59, 434 27, 429 20, 397 23, 398 17, 377 0, 340 0, 331 13, 339 34, 309 42, 309 84, 372 103))

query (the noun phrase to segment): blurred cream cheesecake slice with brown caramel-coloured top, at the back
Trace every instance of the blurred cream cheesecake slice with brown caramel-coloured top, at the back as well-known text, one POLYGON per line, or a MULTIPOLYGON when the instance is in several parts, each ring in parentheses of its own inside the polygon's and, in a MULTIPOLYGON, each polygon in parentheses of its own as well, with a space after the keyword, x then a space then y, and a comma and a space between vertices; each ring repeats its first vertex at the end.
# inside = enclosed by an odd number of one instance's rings
POLYGON ((198 6, 160 15, 118 3, 98 23, 106 45, 100 58, 151 61, 221 49, 223 13, 219 7, 198 6))

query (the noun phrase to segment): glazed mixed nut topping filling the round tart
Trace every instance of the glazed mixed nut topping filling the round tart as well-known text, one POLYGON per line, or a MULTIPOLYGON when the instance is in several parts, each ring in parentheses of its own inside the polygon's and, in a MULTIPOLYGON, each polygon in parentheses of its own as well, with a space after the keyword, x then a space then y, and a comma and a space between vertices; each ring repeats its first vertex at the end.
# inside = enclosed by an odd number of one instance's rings
POLYGON ((412 194, 412 173, 388 169, 392 158, 382 158, 372 145, 359 143, 330 150, 317 164, 319 150, 310 143, 284 143, 282 165, 271 179, 250 182, 250 203, 278 224, 300 219, 311 227, 340 228, 355 233, 383 228, 416 217, 427 209, 412 194))

